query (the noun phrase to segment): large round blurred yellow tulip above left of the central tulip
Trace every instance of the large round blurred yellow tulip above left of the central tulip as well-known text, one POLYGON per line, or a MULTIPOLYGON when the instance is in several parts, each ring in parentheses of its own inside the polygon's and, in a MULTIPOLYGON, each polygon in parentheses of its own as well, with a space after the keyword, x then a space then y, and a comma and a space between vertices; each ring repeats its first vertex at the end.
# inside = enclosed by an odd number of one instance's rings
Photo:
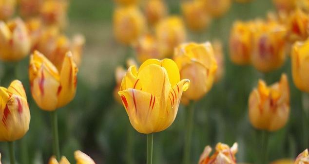
POLYGON ((143 14, 137 6, 120 6, 114 12, 114 35, 122 44, 133 43, 146 30, 143 14))

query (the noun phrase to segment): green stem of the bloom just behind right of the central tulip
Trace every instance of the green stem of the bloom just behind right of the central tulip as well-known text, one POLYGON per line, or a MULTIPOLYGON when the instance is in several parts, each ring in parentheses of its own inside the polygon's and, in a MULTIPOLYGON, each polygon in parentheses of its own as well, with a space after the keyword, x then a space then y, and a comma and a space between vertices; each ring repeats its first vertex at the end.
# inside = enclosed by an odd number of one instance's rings
POLYGON ((183 152, 183 164, 190 163, 190 153, 191 153, 191 138, 193 131, 193 117, 194 117, 194 102, 190 101, 190 104, 187 106, 187 120, 186 120, 186 133, 185 133, 185 145, 183 152))

